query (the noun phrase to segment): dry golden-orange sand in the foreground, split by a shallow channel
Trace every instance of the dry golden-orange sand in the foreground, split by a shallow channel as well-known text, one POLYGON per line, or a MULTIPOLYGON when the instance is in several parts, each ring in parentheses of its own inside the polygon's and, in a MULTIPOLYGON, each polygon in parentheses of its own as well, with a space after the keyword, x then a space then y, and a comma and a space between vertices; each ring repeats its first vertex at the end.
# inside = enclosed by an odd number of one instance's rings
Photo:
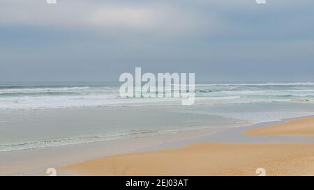
MULTIPOLYGON (((314 118, 288 120, 246 135, 313 135, 314 118)), ((276 138, 276 137, 275 137, 276 138)), ((194 143, 170 150, 91 159, 57 168, 71 175, 314 175, 314 143, 194 143)))

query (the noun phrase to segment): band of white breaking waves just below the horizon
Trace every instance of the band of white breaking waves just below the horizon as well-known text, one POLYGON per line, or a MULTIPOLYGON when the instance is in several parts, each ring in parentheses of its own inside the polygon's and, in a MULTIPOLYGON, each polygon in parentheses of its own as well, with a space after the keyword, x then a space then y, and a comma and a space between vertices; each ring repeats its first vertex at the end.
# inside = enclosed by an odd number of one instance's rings
MULTIPOLYGON (((196 84, 195 104, 314 102, 314 83, 196 84)), ((2 86, 0 110, 100 106, 149 106, 171 98, 121 98, 119 86, 2 86)))

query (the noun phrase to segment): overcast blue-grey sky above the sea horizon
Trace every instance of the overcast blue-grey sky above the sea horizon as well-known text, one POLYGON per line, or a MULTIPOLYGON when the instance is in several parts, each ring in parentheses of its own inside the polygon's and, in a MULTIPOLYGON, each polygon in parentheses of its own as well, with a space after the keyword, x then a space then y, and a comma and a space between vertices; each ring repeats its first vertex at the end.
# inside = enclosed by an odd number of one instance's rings
POLYGON ((0 81, 314 81, 314 1, 0 1, 0 81))

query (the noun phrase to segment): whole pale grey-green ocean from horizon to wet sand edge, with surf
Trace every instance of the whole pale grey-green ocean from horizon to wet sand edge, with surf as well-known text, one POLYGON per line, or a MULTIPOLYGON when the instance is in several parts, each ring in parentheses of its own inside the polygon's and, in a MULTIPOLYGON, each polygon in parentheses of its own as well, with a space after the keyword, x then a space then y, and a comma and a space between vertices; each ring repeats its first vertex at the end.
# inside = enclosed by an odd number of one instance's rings
POLYGON ((314 115, 314 83, 196 84, 195 104, 121 98, 114 83, 1 83, 0 152, 314 115))

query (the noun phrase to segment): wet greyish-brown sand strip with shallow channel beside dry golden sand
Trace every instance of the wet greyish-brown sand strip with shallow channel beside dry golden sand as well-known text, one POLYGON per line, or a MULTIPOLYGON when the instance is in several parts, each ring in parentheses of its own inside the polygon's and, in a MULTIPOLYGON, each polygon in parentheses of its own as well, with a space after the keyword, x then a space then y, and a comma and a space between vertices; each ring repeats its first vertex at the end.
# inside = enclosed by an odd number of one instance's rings
MULTIPOLYGON (((301 118, 308 117, 311 116, 301 118)), ((266 136, 255 138, 255 136, 249 136, 251 137, 250 139, 245 139, 243 138, 244 134, 242 134, 242 131, 256 127, 267 127, 268 125, 285 122, 286 120, 290 119, 275 122, 260 122, 254 125, 241 127, 227 127, 224 129, 216 128, 216 130, 214 128, 192 129, 188 132, 178 134, 163 134, 159 136, 119 139, 80 145, 64 145, 60 147, 36 148, 33 150, 0 152, 1 159, 5 160, 1 163, 0 175, 46 175, 46 168, 70 166, 72 164, 82 163, 83 161, 114 155, 182 148, 193 143, 234 143, 241 139, 244 140, 244 143, 253 143, 254 141, 256 143, 259 141, 271 142, 274 141, 274 137, 269 138, 266 136), (82 152, 84 152, 83 155, 82 152), (30 168, 28 166, 32 167, 30 168)), ((276 138, 279 139, 281 137, 276 138)), ((298 137, 283 137, 279 140, 290 142, 314 142, 313 138, 298 137)), ((241 143, 241 141, 239 143, 241 143)), ((61 172, 59 174, 69 175, 67 172, 61 172)))

